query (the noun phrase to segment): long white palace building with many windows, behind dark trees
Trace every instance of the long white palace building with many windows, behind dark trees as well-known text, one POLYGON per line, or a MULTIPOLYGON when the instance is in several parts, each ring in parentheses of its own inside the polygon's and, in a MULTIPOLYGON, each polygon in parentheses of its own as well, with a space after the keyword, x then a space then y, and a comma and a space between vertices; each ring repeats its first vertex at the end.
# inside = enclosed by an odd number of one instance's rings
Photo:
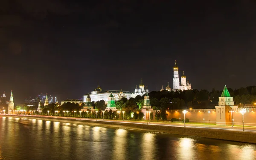
MULTIPOLYGON (((121 90, 105 90, 102 91, 101 87, 97 87, 92 93, 90 94, 91 101, 97 102, 100 100, 104 100, 106 103, 108 102, 108 97, 110 94, 114 96, 115 101, 118 101, 122 97, 125 97, 127 99, 131 98, 131 93, 129 91, 123 91, 121 90)), ((84 102, 86 102, 87 95, 84 95, 84 102)))

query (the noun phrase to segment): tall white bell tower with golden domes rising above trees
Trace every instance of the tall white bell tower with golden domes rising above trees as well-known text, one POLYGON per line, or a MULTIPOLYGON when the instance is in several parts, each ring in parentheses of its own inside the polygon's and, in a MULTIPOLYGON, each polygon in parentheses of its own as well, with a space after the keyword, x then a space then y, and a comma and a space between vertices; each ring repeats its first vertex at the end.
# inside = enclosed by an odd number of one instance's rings
POLYGON ((181 83, 180 83, 179 67, 177 66, 176 60, 175 60, 175 66, 173 67, 173 89, 172 90, 174 91, 192 90, 189 80, 186 81, 186 76, 184 75, 184 71, 183 71, 183 76, 181 76, 181 83))

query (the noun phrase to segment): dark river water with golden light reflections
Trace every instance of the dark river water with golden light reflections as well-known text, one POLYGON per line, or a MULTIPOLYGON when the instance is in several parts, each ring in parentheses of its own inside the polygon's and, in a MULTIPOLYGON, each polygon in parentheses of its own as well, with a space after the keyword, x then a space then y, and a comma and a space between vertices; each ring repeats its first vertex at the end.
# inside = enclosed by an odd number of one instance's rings
POLYGON ((256 145, 0 117, 0 160, 256 160, 256 145))

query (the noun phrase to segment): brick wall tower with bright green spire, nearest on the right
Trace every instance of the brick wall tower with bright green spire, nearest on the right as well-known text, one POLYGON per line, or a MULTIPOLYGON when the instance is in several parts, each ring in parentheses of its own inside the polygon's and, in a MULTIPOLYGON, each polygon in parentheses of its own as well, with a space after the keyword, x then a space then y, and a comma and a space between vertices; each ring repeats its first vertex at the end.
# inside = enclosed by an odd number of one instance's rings
POLYGON ((234 105, 233 97, 230 96, 227 86, 224 86, 224 89, 219 97, 218 106, 216 108, 216 124, 217 125, 231 125, 232 119, 230 117, 231 111, 237 109, 237 105, 234 105))

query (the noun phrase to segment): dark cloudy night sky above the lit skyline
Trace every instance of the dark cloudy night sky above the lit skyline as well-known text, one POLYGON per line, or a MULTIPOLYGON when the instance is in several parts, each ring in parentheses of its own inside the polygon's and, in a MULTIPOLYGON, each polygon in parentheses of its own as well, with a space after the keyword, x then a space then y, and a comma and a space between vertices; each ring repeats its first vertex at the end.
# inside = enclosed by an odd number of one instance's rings
POLYGON ((175 60, 194 89, 255 85, 256 1, 0 1, 0 93, 16 102, 78 99, 98 82, 172 88, 175 60))

